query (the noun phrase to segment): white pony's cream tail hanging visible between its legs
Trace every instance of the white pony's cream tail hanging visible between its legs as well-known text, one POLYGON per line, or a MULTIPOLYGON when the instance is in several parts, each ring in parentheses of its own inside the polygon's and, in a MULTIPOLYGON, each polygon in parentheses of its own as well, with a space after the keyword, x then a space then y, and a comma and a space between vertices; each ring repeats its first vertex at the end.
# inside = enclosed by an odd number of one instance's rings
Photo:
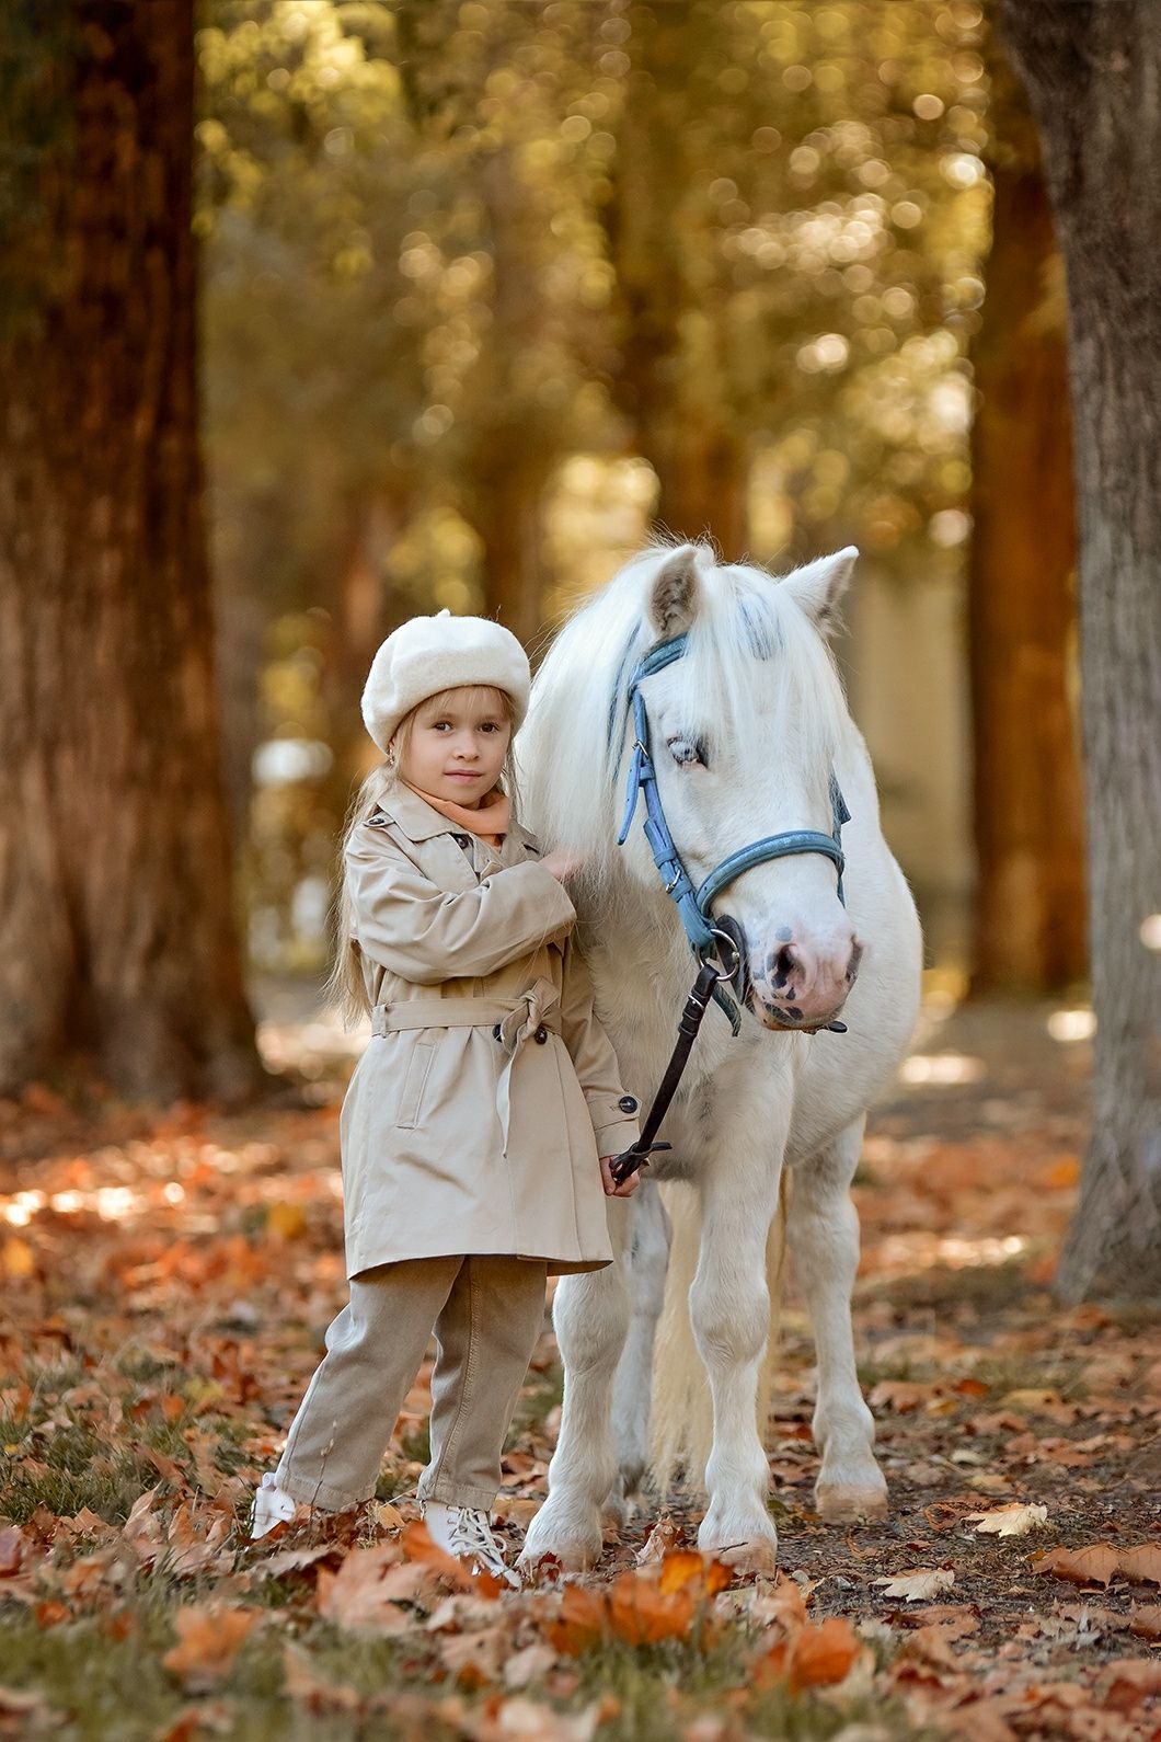
MULTIPOLYGON (((701 1216, 696 1193, 686 1185, 661 1186, 661 1198, 674 1230, 665 1277, 665 1301, 653 1359, 649 1409, 649 1465, 658 1493, 665 1495, 681 1472, 689 1493, 705 1491, 705 1463, 714 1441, 714 1413, 705 1367, 689 1322, 689 1289, 698 1268, 701 1216)), ((769 1333, 757 1381, 757 1432, 766 1444, 787 1258, 787 1212, 790 1171, 782 1169, 778 1209, 766 1239, 766 1284, 769 1289, 769 1333)))

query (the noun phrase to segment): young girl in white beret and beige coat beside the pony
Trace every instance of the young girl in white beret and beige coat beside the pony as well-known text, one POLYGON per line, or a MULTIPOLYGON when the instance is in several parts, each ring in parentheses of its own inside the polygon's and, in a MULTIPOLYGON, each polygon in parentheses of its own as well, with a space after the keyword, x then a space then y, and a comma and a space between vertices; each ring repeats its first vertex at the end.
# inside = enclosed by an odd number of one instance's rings
POLYGON ((343 841, 348 1019, 372 1017, 339 1120, 350 1305, 325 1333, 252 1536, 298 1502, 374 1495, 428 1336, 444 1549, 519 1583, 493 1536, 500 1455, 543 1326, 545 1275, 613 1258, 609 1158, 637 1138, 571 930, 564 854, 512 815, 510 742, 527 658, 500 624, 414 617, 371 665, 362 712, 385 765, 343 841))

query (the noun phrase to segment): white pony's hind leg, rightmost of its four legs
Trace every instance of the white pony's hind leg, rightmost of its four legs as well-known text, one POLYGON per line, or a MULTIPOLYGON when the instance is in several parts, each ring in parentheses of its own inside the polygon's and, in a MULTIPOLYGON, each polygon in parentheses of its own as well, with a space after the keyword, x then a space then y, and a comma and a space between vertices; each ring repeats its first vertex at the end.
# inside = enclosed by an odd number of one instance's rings
POLYGON ((882 1517, 888 1488, 874 1458, 876 1427, 855 1373, 851 1289, 858 1270, 858 1214, 851 1178, 863 1120, 794 1169, 789 1244, 818 1354, 815 1444, 822 1469, 815 1503, 830 1521, 882 1517))

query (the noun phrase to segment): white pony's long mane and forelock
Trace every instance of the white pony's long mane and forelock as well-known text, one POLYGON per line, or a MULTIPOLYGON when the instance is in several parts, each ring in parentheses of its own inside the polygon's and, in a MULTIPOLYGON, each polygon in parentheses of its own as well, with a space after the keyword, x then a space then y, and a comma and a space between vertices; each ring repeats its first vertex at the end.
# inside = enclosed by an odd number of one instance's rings
MULTIPOLYGON (((661 639, 649 622, 649 598, 672 556, 672 545, 637 552, 564 620, 519 733, 526 820, 541 845, 585 859, 588 885, 606 885, 616 864, 620 775, 632 742, 627 690, 637 662, 661 639)), ((695 561, 698 613, 684 657, 668 669, 681 672, 698 716, 724 735, 752 732, 759 711, 773 707, 780 754, 816 770, 825 793, 849 725, 827 643, 766 570, 717 564, 707 545, 695 545, 695 561)))

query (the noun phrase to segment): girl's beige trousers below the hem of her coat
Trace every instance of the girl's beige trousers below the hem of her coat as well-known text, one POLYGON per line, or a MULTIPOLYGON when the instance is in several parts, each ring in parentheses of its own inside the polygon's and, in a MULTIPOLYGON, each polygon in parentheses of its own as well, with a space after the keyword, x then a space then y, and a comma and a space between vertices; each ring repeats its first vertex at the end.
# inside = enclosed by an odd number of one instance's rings
POLYGON ((435 1327, 432 1462, 421 1500, 491 1507, 500 1453, 545 1322, 547 1263, 407 1258, 352 1279, 327 1352, 291 1423, 275 1481, 345 1512, 369 1500, 435 1327))

